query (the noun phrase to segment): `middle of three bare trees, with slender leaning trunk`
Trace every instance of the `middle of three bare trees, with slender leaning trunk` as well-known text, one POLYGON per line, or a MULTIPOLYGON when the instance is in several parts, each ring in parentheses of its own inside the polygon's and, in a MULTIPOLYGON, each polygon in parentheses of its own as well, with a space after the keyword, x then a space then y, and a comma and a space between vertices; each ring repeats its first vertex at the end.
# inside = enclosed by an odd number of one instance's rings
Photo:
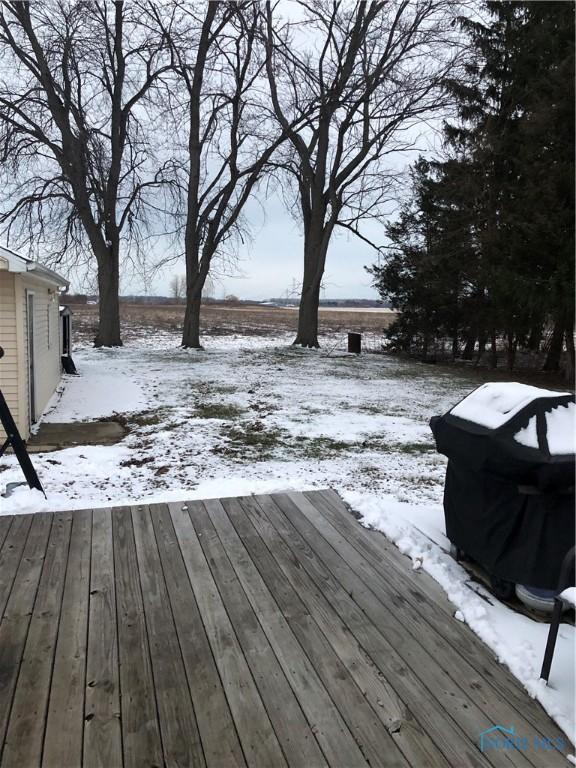
MULTIPOLYGON (((201 6, 202 17, 193 5, 178 7, 179 35, 168 38, 185 86, 188 127, 182 346, 200 348, 202 292, 212 261, 234 238, 242 240, 243 208, 286 132, 271 123, 262 104, 266 77, 258 4, 210 2, 201 6)), ((182 122, 174 100, 170 110, 182 122)))

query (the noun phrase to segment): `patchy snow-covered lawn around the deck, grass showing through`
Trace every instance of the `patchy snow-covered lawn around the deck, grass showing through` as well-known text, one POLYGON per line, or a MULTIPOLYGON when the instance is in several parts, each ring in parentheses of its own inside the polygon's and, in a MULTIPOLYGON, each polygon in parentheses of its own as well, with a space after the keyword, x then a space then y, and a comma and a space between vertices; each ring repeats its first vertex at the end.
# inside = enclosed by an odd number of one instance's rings
MULTIPOLYGON (((156 333, 84 347, 44 419, 118 414, 127 437, 33 457, 48 500, 19 489, 0 512, 79 509, 331 487, 428 571, 465 621, 574 738, 574 627, 562 625, 550 683, 538 680, 548 625, 498 603, 447 554, 445 459, 428 421, 480 381, 388 356, 321 350, 291 337, 212 337, 205 351, 156 333)), ((0 460, 0 487, 21 479, 0 460)))

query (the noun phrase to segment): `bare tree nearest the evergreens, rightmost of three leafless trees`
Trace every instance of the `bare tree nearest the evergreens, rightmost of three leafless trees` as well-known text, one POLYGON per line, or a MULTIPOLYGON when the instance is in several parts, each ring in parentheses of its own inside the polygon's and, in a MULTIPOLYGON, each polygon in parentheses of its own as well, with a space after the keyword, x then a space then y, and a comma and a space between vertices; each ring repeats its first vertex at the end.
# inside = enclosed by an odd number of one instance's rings
POLYGON ((291 151, 304 230, 295 344, 318 346, 318 303, 330 239, 381 214, 397 175, 386 161, 444 100, 450 65, 446 0, 299 2, 304 20, 281 24, 266 3, 266 69, 291 151), (304 115, 306 120, 298 120, 304 115))

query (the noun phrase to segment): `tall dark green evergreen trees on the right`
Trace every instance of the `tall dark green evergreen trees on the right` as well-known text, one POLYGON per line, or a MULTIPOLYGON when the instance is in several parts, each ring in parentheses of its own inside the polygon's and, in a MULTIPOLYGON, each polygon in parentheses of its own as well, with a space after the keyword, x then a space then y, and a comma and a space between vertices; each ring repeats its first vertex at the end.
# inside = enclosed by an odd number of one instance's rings
POLYGON ((574 4, 489 2, 461 19, 469 60, 447 82, 445 153, 412 168, 411 195, 371 268, 401 311, 393 349, 574 378, 574 4))

